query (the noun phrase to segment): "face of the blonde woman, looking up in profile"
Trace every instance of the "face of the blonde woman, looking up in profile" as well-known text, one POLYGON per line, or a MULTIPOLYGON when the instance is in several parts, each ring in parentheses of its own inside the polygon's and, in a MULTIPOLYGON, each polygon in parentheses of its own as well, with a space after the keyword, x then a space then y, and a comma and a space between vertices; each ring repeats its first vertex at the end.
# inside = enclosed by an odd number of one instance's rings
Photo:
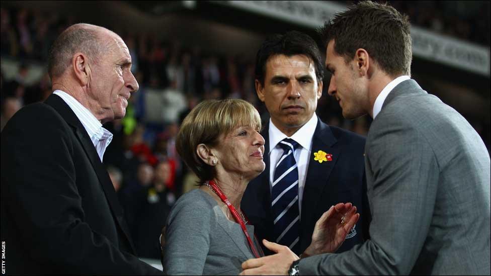
POLYGON ((252 180, 263 172, 264 138, 252 126, 238 126, 220 137, 214 148, 217 170, 252 180))

